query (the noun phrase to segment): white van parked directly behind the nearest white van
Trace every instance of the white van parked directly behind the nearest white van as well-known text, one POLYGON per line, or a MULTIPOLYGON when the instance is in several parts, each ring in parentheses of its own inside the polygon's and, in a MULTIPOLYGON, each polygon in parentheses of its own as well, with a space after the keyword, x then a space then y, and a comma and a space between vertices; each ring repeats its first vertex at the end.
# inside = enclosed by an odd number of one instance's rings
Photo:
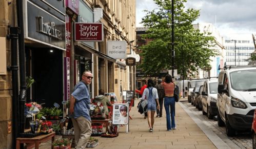
POLYGON ((203 105, 203 115, 207 114, 209 119, 217 115, 217 93, 218 93, 218 79, 210 78, 205 80, 204 87, 202 91, 202 105, 203 105))

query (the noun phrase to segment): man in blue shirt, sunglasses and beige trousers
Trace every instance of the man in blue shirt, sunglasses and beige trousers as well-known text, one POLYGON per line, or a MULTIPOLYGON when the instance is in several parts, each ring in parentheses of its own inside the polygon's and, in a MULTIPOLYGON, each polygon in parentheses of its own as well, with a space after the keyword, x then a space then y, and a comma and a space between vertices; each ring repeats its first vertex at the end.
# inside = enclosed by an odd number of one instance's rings
POLYGON ((70 98, 69 114, 74 126, 76 149, 85 148, 92 133, 89 113, 91 98, 87 86, 92 78, 92 73, 85 71, 82 80, 75 85, 70 98))

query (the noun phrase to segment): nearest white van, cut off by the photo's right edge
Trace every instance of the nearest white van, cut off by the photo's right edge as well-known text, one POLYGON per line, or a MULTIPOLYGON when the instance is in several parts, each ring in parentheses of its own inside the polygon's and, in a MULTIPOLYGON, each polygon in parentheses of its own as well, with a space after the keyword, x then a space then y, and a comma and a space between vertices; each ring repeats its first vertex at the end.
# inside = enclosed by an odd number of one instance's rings
POLYGON ((229 67, 218 80, 218 125, 226 125, 227 136, 250 130, 256 108, 256 66, 229 67))

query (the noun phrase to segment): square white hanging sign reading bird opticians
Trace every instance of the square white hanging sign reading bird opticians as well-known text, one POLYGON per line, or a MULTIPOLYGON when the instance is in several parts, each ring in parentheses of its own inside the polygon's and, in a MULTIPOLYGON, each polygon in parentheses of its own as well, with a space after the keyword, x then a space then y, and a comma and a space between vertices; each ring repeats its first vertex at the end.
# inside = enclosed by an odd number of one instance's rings
POLYGON ((126 59, 126 41, 108 41, 107 55, 114 59, 126 59))

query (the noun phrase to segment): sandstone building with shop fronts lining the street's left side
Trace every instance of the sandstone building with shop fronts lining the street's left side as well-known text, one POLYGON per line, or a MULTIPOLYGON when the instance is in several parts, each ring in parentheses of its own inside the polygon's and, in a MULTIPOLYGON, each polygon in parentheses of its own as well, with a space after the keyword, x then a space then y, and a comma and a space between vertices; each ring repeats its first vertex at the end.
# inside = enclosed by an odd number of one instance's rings
MULTIPOLYGON (((15 137, 19 136, 15 133, 23 132, 13 127, 13 122, 19 126, 19 121, 13 116, 12 72, 7 69, 11 66, 12 46, 6 37, 10 33, 8 26, 18 26, 17 2, 0 1, 0 6, 3 6, 0 10, 0 148, 14 148, 15 137)), ((135 0, 26 0, 23 3, 26 4, 23 7, 26 14, 23 16, 26 76, 35 79, 32 87, 27 89, 27 102, 44 99, 46 107, 51 107, 53 102, 61 105, 70 98, 74 85, 85 70, 94 75, 90 85, 91 98, 98 95, 99 89, 104 89, 115 93, 117 100, 122 101, 121 90, 135 89, 135 66, 126 66, 125 59, 114 59, 107 53, 108 40, 126 41, 128 47, 136 45, 135 0), (33 16, 38 13, 40 17, 33 16), (37 31, 34 22, 42 25, 51 22, 48 26, 60 34, 53 36, 37 31), (75 41, 74 25, 79 22, 102 23, 103 41, 75 41), (31 31, 32 28, 35 30, 31 31)), ((131 50, 129 54, 135 54, 132 49, 128 50, 131 50)), ((18 69, 19 65, 18 62, 18 69)), ((18 81, 17 88, 20 84, 18 81)))

